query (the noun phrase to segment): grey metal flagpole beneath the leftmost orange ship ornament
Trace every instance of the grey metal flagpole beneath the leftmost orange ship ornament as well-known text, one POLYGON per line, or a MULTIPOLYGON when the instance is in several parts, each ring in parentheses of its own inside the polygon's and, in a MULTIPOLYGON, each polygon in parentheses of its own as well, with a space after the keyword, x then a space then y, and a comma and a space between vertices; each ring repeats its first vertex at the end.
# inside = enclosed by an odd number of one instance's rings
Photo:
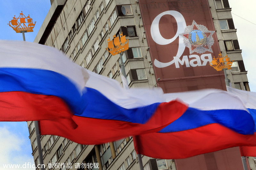
MULTIPOLYGON (((22 33, 23 36, 23 41, 25 40, 25 32, 27 31, 20 31, 22 33)), ((41 146, 41 135, 39 133, 39 127, 38 127, 38 121, 34 121, 35 124, 35 131, 36 131, 36 144, 37 144, 37 152, 38 152, 38 160, 39 160, 39 164, 41 166, 41 170, 44 170, 44 160, 43 160, 43 152, 42 152, 42 146, 41 146)), ((38 166, 38 165, 37 165, 38 166)))

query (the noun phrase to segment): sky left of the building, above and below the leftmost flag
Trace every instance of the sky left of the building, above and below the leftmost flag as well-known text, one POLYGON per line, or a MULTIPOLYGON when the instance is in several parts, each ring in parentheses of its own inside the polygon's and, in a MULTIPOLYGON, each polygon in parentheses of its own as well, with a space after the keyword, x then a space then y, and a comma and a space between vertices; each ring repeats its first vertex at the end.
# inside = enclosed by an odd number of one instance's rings
MULTIPOLYGON (((36 21, 34 32, 25 33, 26 41, 33 42, 50 7, 50 0, 0 0, 0 39, 23 40, 21 33, 16 33, 7 25, 14 15, 18 17, 22 11, 36 21)), ((9 170, 3 168, 3 164, 22 166, 34 163, 28 136, 27 122, 0 122, 0 170, 9 170)))

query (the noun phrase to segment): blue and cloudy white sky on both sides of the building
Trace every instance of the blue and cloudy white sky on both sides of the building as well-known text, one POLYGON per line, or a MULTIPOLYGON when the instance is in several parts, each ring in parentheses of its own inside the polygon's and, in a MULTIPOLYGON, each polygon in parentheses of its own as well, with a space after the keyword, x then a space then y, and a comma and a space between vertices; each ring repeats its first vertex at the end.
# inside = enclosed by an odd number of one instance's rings
MULTIPOLYGON (((254 67, 256 63, 255 49, 256 39, 256 1, 247 0, 241 5, 240 1, 229 0, 232 8, 232 17, 245 69, 248 71, 248 80, 251 91, 256 92, 256 79, 254 67)), ((40 29, 46 14, 51 7, 50 0, 0 0, 0 39, 23 40, 21 33, 16 33, 9 25, 14 15, 18 17, 22 11, 25 16, 30 15, 36 21, 34 32, 25 33, 26 41, 33 42, 40 29)), ((0 61, 1 62, 1 61, 0 61)), ((0 122, 0 170, 3 164, 34 164, 31 155, 32 149, 28 138, 26 122, 0 122)), ((23 168, 32 170, 33 168, 23 168)))

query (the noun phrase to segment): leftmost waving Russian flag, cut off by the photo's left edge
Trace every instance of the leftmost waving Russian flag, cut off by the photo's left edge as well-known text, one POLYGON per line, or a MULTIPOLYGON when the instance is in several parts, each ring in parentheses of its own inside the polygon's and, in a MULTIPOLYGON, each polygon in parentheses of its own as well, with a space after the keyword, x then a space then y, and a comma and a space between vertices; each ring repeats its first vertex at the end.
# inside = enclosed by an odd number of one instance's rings
POLYGON ((52 47, 1 40, 0 120, 53 120, 80 114, 87 79, 86 70, 52 47))

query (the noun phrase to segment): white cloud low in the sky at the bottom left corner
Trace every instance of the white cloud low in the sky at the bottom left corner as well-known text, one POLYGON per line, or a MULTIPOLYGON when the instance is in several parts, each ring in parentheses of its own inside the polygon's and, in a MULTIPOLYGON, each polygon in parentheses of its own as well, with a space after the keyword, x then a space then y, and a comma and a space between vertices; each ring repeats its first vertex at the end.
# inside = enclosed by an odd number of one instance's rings
MULTIPOLYGON (((12 170, 17 168, 4 168, 3 164, 17 164, 22 166, 25 163, 34 164, 32 155, 24 151, 25 139, 17 133, 10 131, 6 126, 0 127, 0 170, 12 170)), ((26 148, 26 147, 25 147, 26 148)), ((22 168, 32 170, 35 168, 22 168)))

